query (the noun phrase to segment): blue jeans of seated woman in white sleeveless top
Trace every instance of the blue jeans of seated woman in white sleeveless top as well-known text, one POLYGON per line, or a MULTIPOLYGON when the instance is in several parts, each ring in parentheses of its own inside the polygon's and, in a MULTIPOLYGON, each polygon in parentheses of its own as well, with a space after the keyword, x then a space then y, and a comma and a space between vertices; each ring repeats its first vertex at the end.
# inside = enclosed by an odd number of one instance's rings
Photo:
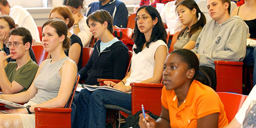
POLYGON ((131 94, 98 89, 81 90, 77 99, 77 109, 73 127, 104 128, 106 125, 105 104, 131 110, 131 94))

